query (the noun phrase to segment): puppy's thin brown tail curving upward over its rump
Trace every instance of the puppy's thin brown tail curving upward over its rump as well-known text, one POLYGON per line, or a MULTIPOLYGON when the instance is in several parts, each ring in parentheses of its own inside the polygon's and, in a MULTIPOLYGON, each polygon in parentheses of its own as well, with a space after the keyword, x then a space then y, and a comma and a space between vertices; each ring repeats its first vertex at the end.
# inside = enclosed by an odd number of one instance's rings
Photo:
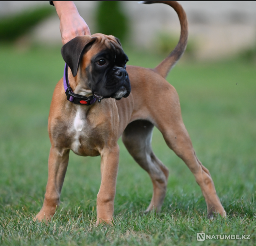
POLYGON ((170 53, 167 58, 164 59, 155 69, 158 74, 162 77, 166 77, 170 70, 175 66, 177 61, 181 58, 184 51, 186 50, 186 46, 188 43, 188 21, 186 17, 186 13, 181 7, 181 5, 176 1, 143 1, 142 3, 150 4, 150 3, 165 3, 171 6, 178 14, 180 19, 180 40, 174 50, 170 53))

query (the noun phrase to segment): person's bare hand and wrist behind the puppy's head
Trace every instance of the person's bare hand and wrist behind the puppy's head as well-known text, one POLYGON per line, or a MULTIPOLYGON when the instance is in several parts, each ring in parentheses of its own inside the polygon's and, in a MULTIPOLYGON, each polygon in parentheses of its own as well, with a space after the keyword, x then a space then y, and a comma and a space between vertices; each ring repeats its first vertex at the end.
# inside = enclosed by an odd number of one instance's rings
POLYGON ((60 18, 63 45, 77 36, 91 35, 90 29, 71 1, 53 1, 60 18))

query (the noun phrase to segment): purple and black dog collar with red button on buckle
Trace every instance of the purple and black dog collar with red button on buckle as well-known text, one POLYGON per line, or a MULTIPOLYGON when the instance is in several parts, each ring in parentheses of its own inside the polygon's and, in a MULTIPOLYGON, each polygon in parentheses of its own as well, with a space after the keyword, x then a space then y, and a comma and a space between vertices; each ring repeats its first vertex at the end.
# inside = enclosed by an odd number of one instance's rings
POLYGON ((72 88, 69 85, 68 81, 68 64, 65 64, 64 68, 64 76, 63 76, 63 85, 64 85, 64 90, 67 96, 67 100, 70 101, 71 103, 79 104, 79 105, 91 105, 96 102, 97 98, 95 96, 82 96, 79 94, 75 94, 72 91, 72 88))

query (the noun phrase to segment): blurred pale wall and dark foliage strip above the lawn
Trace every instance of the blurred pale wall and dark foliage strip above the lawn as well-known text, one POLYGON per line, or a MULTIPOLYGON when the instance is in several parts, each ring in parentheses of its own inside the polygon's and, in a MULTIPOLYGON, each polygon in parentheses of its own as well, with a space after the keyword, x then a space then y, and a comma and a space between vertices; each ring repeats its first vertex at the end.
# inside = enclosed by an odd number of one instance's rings
MULTIPOLYGON (((133 48, 170 51, 179 38, 177 14, 163 4, 75 1, 91 33, 119 37, 133 48)), ((187 53, 195 59, 223 59, 256 53, 255 1, 183 1, 189 22, 187 53)), ((45 1, 1 1, 0 40, 20 47, 61 45, 55 8, 45 1)))

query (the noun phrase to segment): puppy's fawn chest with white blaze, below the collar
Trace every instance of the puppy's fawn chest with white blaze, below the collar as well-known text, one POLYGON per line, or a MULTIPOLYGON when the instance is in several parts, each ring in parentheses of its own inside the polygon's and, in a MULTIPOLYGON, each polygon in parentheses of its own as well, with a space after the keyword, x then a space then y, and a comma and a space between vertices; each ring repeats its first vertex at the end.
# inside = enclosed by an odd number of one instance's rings
POLYGON ((118 127, 113 127, 113 122, 117 123, 116 118, 112 111, 105 115, 98 107, 63 109, 62 116, 50 122, 49 133, 60 153, 69 149, 80 156, 99 156, 116 136, 118 127))

